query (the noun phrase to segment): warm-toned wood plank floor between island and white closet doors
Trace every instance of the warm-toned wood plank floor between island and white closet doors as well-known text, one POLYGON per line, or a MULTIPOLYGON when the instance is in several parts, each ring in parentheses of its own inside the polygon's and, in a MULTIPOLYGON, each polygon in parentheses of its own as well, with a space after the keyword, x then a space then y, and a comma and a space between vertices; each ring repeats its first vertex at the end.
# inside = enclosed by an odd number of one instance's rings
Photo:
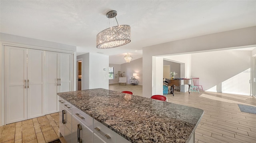
POLYGON ((59 113, 11 123, 0 127, 0 143, 48 143, 60 138, 59 113))

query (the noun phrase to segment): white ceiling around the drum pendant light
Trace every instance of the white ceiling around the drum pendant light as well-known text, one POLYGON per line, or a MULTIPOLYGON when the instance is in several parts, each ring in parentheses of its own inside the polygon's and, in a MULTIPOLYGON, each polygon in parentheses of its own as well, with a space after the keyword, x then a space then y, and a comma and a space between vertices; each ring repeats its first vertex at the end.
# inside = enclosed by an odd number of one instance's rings
POLYGON ((126 53, 141 58, 142 47, 256 26, 256 0, 1 0, 0 16, 2 33, 74 45, 77 55, 98 52, 122 64, 126 53), (110 10, 120 25, 131 26, 132 41, 97 49, 110 10))

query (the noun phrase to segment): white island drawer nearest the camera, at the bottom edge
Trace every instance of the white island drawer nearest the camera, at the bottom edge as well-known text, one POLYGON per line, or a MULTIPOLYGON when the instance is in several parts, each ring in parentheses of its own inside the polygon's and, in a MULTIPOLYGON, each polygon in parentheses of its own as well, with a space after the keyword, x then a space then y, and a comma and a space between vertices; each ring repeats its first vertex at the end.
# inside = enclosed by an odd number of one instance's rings
POLYGON ((106 143, 116 143, 116 133, 95 119, 94 133, 96 133, 96 135, 98 135, 106 143))

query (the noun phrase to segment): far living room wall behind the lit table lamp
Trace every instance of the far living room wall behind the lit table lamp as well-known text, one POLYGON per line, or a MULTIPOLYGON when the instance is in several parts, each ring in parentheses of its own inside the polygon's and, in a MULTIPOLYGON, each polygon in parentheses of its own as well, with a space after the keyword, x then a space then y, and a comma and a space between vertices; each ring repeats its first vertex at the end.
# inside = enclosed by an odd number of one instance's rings
POLYGON ((133 73, 137 73, 135 77, 138 79, 138 84, 143 84, 143 74, 142 74, 142 58, 132 60, 130 63, 121 64, 121 71, 124 71, 124 77, 127 77, 127 83, 130 83, 131 77, 133 77, 133 73))

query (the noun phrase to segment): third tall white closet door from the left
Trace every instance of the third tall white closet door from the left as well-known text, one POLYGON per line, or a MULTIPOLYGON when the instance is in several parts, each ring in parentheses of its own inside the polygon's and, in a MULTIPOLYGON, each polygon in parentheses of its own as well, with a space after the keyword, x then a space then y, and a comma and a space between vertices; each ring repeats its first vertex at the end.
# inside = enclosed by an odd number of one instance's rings
POLYGON ((57 88, 58 88, 58 53, 45 52, 46 67, 46 98, 45 114, 58 112, 57 88))

